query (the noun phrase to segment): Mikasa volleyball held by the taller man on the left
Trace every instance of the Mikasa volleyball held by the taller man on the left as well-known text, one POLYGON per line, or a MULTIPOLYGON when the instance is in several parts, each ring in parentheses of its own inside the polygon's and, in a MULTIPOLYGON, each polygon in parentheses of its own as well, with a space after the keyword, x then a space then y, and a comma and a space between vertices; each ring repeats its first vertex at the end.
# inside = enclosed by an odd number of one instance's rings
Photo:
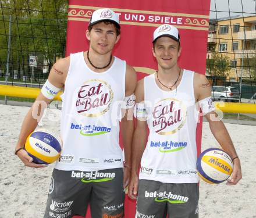
POLYGON ((49 131, 37 130, 27 137, 25 149, 34 163, 49 164, 59 158, 61 140, 49 131))

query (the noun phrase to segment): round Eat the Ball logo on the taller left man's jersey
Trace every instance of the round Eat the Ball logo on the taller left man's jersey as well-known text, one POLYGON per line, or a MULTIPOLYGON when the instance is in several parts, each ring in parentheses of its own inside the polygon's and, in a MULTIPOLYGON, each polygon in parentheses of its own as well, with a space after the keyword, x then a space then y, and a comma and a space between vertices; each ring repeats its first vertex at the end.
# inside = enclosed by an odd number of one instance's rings
POLYGON ((77 92, 77 113, 87 117, 97 117, 106 113, 113 99, 111 85, 103 80, 88 80, 77 92))

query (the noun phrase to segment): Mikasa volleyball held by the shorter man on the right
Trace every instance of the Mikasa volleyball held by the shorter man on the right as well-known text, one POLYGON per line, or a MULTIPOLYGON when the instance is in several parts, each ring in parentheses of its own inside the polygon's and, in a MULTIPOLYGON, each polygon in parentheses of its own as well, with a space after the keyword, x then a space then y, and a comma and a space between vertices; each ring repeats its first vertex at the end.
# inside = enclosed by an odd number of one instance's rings
POLYGON ((219 148, 206 149, 197 159, 199 176, 210 184, 223 183, 230 177, 232 170, 232 159, 225 151, 219 148))

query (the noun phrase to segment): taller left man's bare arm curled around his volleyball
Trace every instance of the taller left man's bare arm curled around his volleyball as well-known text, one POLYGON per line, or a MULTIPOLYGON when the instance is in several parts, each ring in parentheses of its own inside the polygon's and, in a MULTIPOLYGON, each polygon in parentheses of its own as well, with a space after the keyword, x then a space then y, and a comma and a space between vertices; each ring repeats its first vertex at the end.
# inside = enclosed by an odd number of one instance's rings
MULTIPOLYGON (((52 66, 51 72, 49 73, 48 81, 56 88, 63 88, 69 70, 70 58, 63 58, 58 60, 54 66, 52 66)), ((38 95, 37 99, 31 106, 29 112, 23 120, 22 128, 20 130, 19 140, 17 141, 15 151, 19 148, 23 148, 27 137, 32 133, 38 125, 42 115, 44 114, 44 109, 47 105, 51 103, 51 99, 45 97, 42 92, 38 95)), ((27 154, 24 149, 18 151, 17 156, 22 160, 25 166, 30 167, 44 167, 44 165, 38 165, 32 163, 33 159, 27 154)))

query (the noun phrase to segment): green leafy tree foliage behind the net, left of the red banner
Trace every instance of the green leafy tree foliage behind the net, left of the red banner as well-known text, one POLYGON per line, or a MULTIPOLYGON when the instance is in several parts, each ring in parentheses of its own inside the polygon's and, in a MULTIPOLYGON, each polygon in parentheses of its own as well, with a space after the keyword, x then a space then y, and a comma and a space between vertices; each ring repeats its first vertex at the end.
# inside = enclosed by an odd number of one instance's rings
MULTIPOLYGON (((65 56, 67 0, 0 0, 0 63, 7 62, 9 16, 12 16, 12 69, 29 72, 29 55, 38 57, 38 72, 47 60, 65 56)), ((35 72, 37 72, 37 70, 35 72)))

